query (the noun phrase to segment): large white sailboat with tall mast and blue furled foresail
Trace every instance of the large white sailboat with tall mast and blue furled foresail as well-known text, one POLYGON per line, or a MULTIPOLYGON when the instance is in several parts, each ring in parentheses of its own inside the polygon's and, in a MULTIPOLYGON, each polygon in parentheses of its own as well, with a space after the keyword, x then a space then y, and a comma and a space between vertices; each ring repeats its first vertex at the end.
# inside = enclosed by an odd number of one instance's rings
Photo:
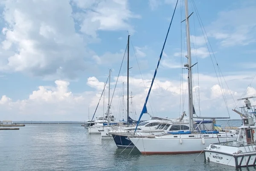
MULTIPOLYGON (((177 6, 177 3, 176 3, 177 6)), ((176 9, 176 7, 175 7, 176 9)), ((236 133, 219 132, 217 130, 207 131, 195 131, 193 122, 193 95, 192 95, 192 64, 191 64, 191 49, 190 49, 190 34, 189 34, 189 14, 188 14, 188 2, 185 0, 185 15, 186 15, 186 43, 187 43, 187 58, 188 64, 184 67, 188 70, 188 95, 189 95, 189 131, 177 132, 177 133, 165 133, 156 136, 148 137, 136 137, 131 136, 128 139, 136 146, 136 148, 142 154, 190 154, 200 153, 205 147, 217 142, 227 142, 236 140, 236 133)), ((171 25, 171 24, 170 24, 171 25)), ((170 28, 170 27, 169 27, 170 28)), ((168 35, 168 34, 167 34, 168 35)), ((166 38, 167 38, 166 35, 166 38)), ((165 40, 166 43, 166 40, 165 40)), ((164 43, 164 44, 165 44, 164 43)), ((164 47, 163 47, 164 48, 164 47)), ((163 49, 161 55, 163 53, 163 49)), ((161 58, 160 55, 160 58, 161 58)), ((160 60, 158 61, 159 64, 160 60)), ((157 71, 157 70, 156 70, 157 71)), ((153 78, 154 81, 154 78, 153 78)), ((152 82, 153 82, 152 81, 152 82)), ((151 83, 152 85, 153 83, 151 83)), ((152 86, 151 86, 152 87, 152 86)), ((149 90, 150 92, 150 90, 149 90)), ((148 98, 148 96, 147 96, 148 98)), ((147 99, 146 99, 147 101, 147 99)), ((143 115, 146 111, 146 101, 143 106, 143 115)), ((140 120, 139 118, 139 120, 140 120)), ((198 117, 199 118, 199 117, 198 117)), ((201 117, 200 119, 227 119, 225 117, 201 117)), ((138 124, 137 124, 138 125, 138 124)), ((134 133, 136 129, 134 130, 134 133)))

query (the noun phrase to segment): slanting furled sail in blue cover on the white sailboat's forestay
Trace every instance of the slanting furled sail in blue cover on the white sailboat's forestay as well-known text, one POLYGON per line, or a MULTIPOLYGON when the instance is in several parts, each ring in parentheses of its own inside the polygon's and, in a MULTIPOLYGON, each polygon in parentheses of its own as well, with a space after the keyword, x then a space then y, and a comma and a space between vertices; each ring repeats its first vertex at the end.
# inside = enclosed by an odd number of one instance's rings
MULTIPOLYGON (((177 0, 177 3, 178 3, 178 0, 177 0)), ((176 3, 176 6, 175 6, 175 9, 174 9, 174 12, 173 12, 173 14, 172 14, 172 20, 173 20, 174 14, 175 14, 175 10, 176 10, 176 7, 177 7, 177 3, 176 3)), ((164 49, 164 46, 165 46, 165 44, 166 44, 166 40, 167 40, 169 31, 170 31, 170 27, 171 27, 171 25, 172 25, 172 20, 171 20, 171 22, 170 22, 169 29, 168 29, 168 31, 167 31, 165 41, 164 41, 164 43, 163 43, 163 48, 162 48, 162 51, 161 51, 161 54, 160 54, 160 57, 159 57, 159 60, 158 60, 158 63, 157 63, 157 68, 156 68, 156 70, 155 70, 155 72, 154 72, 154 76, 153 76, 153 78, 152 78, 152 82, 151 82, 150 88, 149 88, 149 90, 148 90, 148 95, 147 95, 146 100, 145 100, 145 103, 144 103, 144 105, 143 105, 143 109, 142 109, 142 111, 141 111, 141 113, 140 113, 140 117, 139 117, 139 120, 138 120, 138 122, 137 122, 137 125, 136 125, 136 128, 135 128, 135 130, 134 130, 134 133, 135 133, 136 130, 137 130, 137 127, 138 127, 138 125, 139 125, 139 123, 140 123, 140 119, 141 119, 142 115, 143 115, 144 113, 148 113, 146 104, 147 104, 147 102, 148 102, 148 97, 149 97, 149 94, 150 94, 150 92, 151 92, 151 88, 152 88, 153 83, 154 83, 154 78, 155 78, 156 75, 157 75, 157 69, 158 69, 158 66, 159 66, 159 64, 160 64, 160 60, 161 60, 162 55, 163 55, 163 49, 164 49)))

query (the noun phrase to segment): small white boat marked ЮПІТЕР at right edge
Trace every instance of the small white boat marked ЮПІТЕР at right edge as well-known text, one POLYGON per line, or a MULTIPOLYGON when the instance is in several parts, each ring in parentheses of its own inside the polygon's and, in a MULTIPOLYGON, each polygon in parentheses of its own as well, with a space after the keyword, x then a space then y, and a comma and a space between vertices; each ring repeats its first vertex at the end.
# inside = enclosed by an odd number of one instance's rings
POLYGON ((239 127, 237 140, 210 144, 204 149, 205 160, 236 168, 256 165, 256 126, 253 121, 256 106, 250 105, 249 98, 255 97, 243 98, 246 106, 240 107, 241 116, 244 118, 242 118, 242 126, 239 127))

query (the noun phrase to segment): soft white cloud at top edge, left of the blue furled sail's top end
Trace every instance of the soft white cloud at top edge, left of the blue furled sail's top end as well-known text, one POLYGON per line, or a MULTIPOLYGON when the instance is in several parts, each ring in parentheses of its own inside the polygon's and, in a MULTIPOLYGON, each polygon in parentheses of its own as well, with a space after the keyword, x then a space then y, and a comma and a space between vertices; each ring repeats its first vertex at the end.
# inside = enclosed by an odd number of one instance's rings
MULTIPOLYGON (((81 13, 81 32, 97 38, 97 30, 128 30, 134 32, 133 26, 129 24, 131 18, 140 18, 129 10, 128 0, 93 0, 84 3, 84 0, 73 0, 79 8, 87 10, 81 13)), ((81 19, 80 18, 80 19, 81 19)))

